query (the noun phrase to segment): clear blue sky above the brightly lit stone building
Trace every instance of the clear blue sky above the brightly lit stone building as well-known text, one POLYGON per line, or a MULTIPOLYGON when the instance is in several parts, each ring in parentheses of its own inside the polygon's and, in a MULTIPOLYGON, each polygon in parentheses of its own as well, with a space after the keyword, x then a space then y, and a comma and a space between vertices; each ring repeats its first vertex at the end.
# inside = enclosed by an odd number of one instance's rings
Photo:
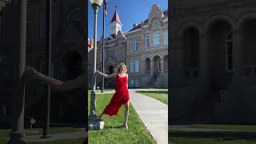
MULTIPOLYGON (((142 22, 148 18, 151 7, 157 3, 162 10, 168 9, 168 0, 108 0, 105 19, 105 38, 110 36, 109 23, 118 6, 118 15, 122 22, 122 32, 130 30, 135 22, 142 22)), ((98 40, 102 37, 103 4, 98 11, 98 40)), ((94 38, 94 12, 88 0, 88 38, 94 38)))

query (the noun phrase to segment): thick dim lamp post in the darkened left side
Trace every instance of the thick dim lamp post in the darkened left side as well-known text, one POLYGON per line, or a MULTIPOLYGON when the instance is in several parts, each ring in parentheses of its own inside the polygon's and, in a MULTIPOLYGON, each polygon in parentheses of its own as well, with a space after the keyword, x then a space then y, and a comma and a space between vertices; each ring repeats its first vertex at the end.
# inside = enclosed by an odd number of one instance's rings
MULTIPOLYGON (((15 2, 17 17, 17 34, 14 34, 14 95, 12 108, 12 130, 8 144, 26 144, 24 133, 25 84, 22 75, 26 66, 26 0, 15 2)), ((15 9, 14 9, 15 10, 15 9)))

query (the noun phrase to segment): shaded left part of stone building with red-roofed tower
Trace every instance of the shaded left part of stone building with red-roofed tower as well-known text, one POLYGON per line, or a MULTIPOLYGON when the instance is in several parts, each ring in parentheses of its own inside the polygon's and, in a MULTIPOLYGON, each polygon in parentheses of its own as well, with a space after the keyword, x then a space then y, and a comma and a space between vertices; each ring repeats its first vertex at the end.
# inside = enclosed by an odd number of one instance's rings
MULTIPOLYGON (((102 39, 98 41, 97 70, 102 70, 102 39)), ((110 22, 110 37, 105 38, 105 73, 112 74, 119 63, 126 63, 126 35, 122 33, 122 22, 117 10, 110 22)), ((98 86, 102 85, 102 78, 97 78, 98 86)), ((114 87, 114 78, 105 80, 106 87, 114 87)))

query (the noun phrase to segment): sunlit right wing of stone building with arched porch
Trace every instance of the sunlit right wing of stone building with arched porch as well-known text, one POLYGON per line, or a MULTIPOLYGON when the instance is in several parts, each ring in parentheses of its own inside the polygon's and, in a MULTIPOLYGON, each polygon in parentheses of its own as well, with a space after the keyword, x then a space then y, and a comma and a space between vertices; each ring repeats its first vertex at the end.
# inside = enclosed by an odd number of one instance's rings
POLYGON ((126 33, 126 64, 130 87, 168 86, 168 14, 158 5, 126 33))

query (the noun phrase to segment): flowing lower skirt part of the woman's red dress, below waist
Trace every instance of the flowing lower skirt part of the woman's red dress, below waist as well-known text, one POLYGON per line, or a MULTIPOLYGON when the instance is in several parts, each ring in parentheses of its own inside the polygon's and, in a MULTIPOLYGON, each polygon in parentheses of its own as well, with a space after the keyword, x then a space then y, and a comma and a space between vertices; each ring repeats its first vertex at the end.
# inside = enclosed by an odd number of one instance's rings
POLYGON ((102 114, 118 115, 119 108, 128 102, 130 99, 128 90, 118 91, 114 93, 114 96, 111 98, 110 103, 103 110, 102 114))

